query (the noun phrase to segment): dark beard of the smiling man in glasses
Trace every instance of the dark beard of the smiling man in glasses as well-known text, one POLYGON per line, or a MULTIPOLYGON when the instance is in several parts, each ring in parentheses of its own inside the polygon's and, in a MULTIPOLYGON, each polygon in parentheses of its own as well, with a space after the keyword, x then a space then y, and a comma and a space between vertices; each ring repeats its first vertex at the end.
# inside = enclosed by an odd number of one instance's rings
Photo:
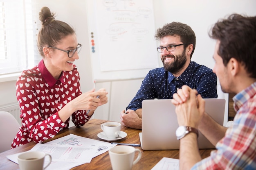
POLYGON ((174 61, 172 63, 166 63, 164 64, 164 58, 162 59, 164 70, 171 72, 172 74, 177 74, 182 68, 184 68, 184 65, 186 64, 186 55, 185 50, 182 52, 182 55, 177 55, 176 57, 173 55, 168 55, 166 57, 174 57, 174 61))

